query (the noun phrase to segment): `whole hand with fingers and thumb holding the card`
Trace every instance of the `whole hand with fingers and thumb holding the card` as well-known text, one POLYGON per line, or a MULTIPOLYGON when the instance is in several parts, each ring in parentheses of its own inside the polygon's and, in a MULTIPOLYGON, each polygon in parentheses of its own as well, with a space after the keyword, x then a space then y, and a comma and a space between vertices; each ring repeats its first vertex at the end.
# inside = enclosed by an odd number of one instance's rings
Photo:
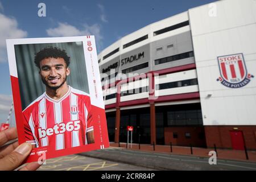
MULTIPOLYGON (((0 132, 0 171, 14 170, 27 158, 32 150, 30 143, 18 144, 18 141, 3 146, 6 142, 17 138, 16 128, 10 128, 0 132), (19 145, 19 146, 18 146, 19 145)), ((34 171, 41 165, 38 162, 29 163, 20 168, 20 171, 34 171)))

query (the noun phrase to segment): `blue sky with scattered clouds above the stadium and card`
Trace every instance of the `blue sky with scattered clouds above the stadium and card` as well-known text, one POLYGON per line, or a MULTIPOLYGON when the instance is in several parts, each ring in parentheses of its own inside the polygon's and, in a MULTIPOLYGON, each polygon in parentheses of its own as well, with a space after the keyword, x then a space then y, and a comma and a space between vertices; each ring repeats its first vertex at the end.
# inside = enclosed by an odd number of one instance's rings
POLYGON ((11 99, 5 39, 90 34, 96 36, 99 53, 122 36, 150 23, 214 1, 0 0, 0 119, 3 110, 7 110, 6 100, 11 99), (46 4, 46 17, 38 16, 40 2, 46 4))

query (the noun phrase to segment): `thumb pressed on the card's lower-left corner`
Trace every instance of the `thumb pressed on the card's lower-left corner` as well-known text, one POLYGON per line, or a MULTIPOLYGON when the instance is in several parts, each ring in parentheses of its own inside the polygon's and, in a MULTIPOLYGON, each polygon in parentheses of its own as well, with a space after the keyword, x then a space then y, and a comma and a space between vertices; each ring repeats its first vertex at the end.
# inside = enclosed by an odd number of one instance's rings
POLYGON ((25 160, 30 154, 32 150, 32 145, 30 143, 22 143, 18 146, 11 154, 5 156, 0 159, 0 170, 14 170, 22 164, 23 160, 25 160))

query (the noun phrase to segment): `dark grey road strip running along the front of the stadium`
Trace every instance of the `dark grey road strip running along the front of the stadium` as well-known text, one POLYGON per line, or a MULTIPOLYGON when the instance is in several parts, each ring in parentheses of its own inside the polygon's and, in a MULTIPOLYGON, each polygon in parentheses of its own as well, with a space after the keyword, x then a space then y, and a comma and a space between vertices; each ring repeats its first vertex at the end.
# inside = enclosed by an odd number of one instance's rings
MULTIPOLYGON (((82 156, 126 163, 134 166, 154 168, 159 170, 252 170, 256 171, 255 162, 223 160, 217 158, 216 165, 209 164, 209 157, 163 154, 159 152, 126 150, 120 147, 110 147, 81 153, 82 156)), ((120 169, 119 169, 120 170, 120 169)))

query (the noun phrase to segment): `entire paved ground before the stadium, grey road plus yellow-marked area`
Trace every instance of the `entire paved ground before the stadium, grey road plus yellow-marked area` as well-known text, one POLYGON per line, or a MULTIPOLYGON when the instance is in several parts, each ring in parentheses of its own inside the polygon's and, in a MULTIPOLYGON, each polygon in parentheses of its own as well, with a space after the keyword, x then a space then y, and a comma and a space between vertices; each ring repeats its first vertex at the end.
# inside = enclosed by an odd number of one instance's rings
MULTIPOLYGON (((159 148, 153 151, 138 150, 123 147, 109 147, 104 150, 84 152, 79 155, 63 156, 48 159, 39 171, 148 171, 148 170, 251 170, 256 171, 256 162, 248 160, 228 160, 217 157, 217 164, 210 165, 209 157, 191 155, 188 148, 183 148, 187 153, 177 155, 175 152, 163 152, 159 148)), ((177 148, 176 148, 177 151, 177 148)))

